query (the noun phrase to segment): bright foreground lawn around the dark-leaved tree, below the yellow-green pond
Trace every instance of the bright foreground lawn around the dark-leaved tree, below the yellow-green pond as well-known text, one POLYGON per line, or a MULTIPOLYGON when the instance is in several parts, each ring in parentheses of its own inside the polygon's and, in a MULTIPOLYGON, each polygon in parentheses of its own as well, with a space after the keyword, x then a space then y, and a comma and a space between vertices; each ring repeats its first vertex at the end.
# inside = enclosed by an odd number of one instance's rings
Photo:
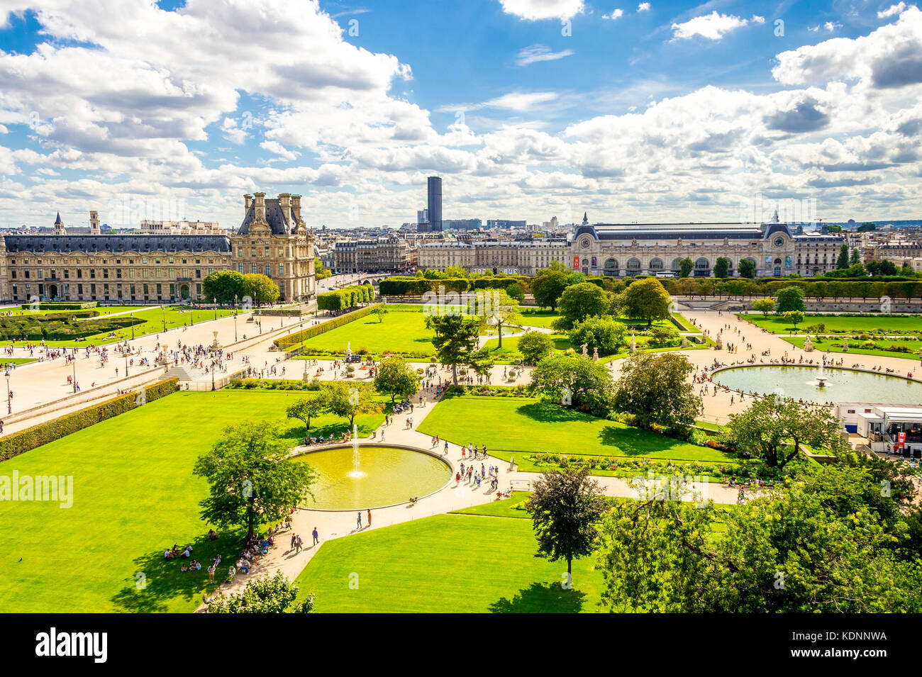
POLYGON ((436 515, 327 541, 297 582, 320 613, 598 611, 592 556, 573 560, 562 589, 566 562, 536 552, 528 519, 436 515))

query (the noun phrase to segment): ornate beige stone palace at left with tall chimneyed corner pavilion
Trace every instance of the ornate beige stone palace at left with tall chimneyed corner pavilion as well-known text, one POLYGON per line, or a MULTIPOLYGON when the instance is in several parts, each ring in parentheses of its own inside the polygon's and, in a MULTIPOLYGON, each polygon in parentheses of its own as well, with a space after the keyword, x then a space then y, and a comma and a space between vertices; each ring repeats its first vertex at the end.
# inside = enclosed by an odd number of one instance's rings
POLYGON ((0 298, 207 302, 202 281, 219 270, 266 274, 280 301, 313 298, 313 232, 301 218, 301 196, 247 194, 243 206, 233 235, 101 235, 96 211, 89 213, 89 235, 68 234, 58 215, 53 235, 0 237, 0 298))

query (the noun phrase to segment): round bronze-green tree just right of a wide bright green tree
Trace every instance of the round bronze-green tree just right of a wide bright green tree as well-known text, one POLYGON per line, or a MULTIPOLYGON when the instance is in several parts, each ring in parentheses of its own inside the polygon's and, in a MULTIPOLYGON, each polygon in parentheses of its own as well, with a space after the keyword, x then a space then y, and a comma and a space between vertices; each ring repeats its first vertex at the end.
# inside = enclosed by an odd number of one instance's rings
POLYGON ((621 367, 612 406, 637 425, 688 427, 701 413, 701 398, 688 377, 694 368, 677 353, 635 353, 621 367))

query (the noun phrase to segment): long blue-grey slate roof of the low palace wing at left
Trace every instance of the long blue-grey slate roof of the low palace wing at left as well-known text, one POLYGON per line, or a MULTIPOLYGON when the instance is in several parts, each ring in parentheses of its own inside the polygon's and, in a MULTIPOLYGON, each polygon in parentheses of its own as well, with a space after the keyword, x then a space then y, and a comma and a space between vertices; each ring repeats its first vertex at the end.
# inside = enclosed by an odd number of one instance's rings
POLYGON ((7 252, 231 251, 226 235, 5 235, 4 240, 7 252))

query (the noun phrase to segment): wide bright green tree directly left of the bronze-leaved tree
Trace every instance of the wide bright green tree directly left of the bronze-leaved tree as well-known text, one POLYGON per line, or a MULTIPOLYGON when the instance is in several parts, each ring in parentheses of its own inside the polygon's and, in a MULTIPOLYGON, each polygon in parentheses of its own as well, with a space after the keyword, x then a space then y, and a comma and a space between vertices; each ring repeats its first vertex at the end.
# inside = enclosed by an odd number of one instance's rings
POLYGON ((611 388, 607 368, 574 355, 545 357, 532 369, 529 385, 543 400, 597 414, 608 413, 611 388))

